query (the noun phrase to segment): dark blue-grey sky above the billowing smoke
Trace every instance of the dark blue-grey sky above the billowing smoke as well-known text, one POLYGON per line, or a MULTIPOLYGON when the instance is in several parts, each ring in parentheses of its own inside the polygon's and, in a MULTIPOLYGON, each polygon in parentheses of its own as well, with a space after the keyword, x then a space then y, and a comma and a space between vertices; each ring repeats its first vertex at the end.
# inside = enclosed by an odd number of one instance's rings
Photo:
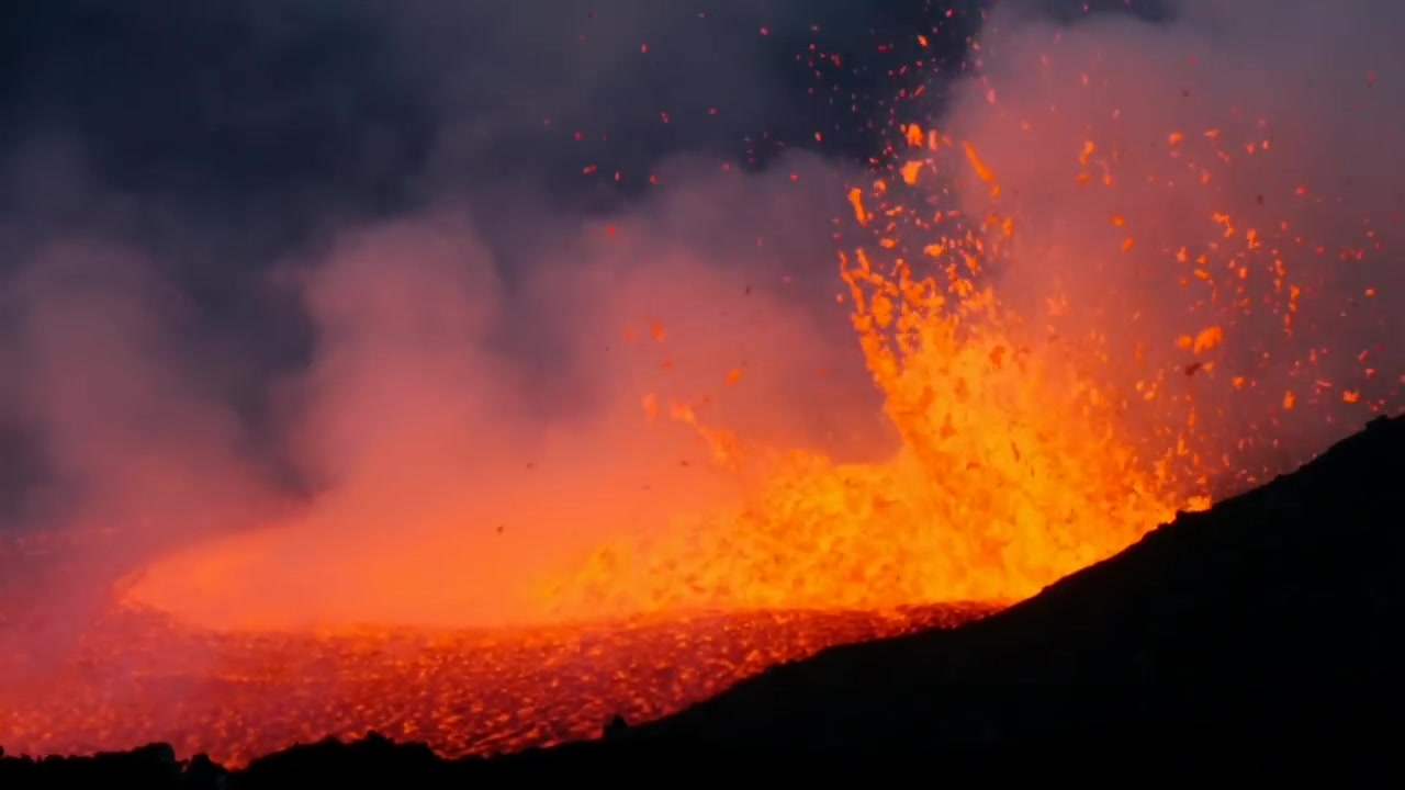
POLYGON ((927 75, 954 70, 978 21, 974 0, 24 1, 0 30, 0 200, 101 224, 100 188, 274 243, 454 181, 590 202, 586 164, 628 193, 683 152, 764 160, 815 131, 861 160, 927 79, 895 73, 915 35, 927 75))

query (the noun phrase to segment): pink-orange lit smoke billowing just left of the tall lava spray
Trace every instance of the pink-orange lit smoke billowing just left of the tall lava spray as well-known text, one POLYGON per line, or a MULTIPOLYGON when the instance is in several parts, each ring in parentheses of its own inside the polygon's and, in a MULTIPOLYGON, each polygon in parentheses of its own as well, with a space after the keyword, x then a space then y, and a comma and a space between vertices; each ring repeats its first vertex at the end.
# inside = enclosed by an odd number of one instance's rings
MULTIPOLYGON (((754 238, 687 239, 698 222, 733 232, 732 211, 705 216, 728 198, 792 211, 788 173, 733 180, 688 179, 589 226, 513 294, 452 204, 339 232, 282 270, 315 332, 311 365, 275 387, 306 503, 254 541, 197 544, 188 561, 219 558, 218 579, 169 564, 150 595, 244 626, 520 621, 541 616, 524 585, 736 493, 687 427, 651 419, 649 396, 780 444, 881 448, 842 315, 805 308, 754 238)), ((809 243, 798 271, 821 254, 809 243)))

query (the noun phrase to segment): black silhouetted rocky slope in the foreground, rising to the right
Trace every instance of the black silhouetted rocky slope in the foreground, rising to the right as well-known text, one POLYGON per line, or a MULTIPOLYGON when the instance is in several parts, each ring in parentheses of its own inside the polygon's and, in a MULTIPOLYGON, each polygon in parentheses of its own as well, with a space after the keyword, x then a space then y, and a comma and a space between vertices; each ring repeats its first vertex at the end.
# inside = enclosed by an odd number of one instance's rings
POLYGON ((599 741, 443 760, 372 735, 237 772, 164 745, 7 756, 0 787, 426 787, 597 769, 683 779, 729 758, 905 756, 941 776, 1135 765, 1127 776, 1141 779, 1187 763, 1286 775, 1325 758, 1378 780, 1399 773, 1402 623, 1405 419, 1381 417, 999 614, 833 648, 652 724, 601 723, 599 741))

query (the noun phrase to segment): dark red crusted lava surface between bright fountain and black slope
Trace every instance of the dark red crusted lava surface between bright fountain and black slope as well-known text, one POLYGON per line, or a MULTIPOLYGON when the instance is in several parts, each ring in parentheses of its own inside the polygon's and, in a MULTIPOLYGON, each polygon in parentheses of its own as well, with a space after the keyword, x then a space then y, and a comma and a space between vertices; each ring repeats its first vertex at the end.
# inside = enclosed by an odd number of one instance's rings
POLYGON ((62 652, 52 634, 28 640, 42 623, 10 623, 0 744, 11 753, 89 753, 169 742, 180 756, 242 765, 298 742, 378 731, 444 756, 510 752, 599 737, 614 717, 658 718, 830 645, 989 611, 762 611, 313 635, 195 631, 110 607, 62 652))

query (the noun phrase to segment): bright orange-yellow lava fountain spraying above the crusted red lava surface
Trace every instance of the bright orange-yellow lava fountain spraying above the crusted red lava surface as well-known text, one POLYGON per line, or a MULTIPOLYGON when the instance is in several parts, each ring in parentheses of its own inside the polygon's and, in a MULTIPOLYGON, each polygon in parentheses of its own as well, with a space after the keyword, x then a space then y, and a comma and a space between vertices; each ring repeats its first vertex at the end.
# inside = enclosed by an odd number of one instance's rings
MULTIPOLYGON (((974 149, 965 159, 993 183, 974 149)), ((851 200, 870 225, 864 195, 851 200)), ((1118 394, 1087 367, 1096 357, 1031 332, 985 283, 1009 226, 954 228, 924 243, 924 261, 864 247, 840 256, 853 326, 901 437, 885 462, 760 446, 711 427, 693 403, 641 394, 641 420, 693 430, 733 477, 735 506, 670 513, 672 524, 583 558, 511 538, 468 551, 454 530, 427 540, 385 530, 340 561, 340 550, 322 548, 334 520, 303 522, 157 561, 128 585, 126 602, 237 630, 402 626, 378 614, 378 602, 396 600, 492 626, 1009 602, 1203 502, 1204 479, 1177 465, 1175 444, 1128 439, 1118 394)), ((483 520, 472 509, 433 517, 483 520)))

